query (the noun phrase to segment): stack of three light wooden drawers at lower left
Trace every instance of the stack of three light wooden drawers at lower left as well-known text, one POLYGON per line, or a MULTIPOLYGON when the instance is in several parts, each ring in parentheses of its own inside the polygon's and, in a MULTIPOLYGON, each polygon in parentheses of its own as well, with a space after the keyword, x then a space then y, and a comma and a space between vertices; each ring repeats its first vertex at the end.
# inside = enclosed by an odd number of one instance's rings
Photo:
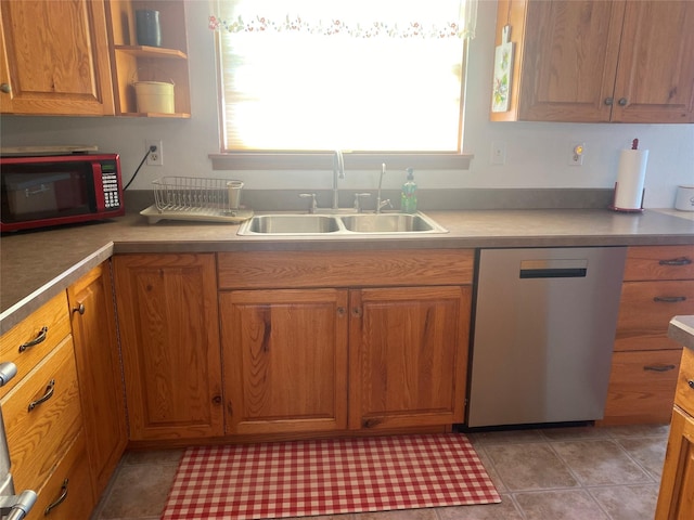
POLYGON ((65 292, 4 334, 0 352, 17 366, 0 392, 15 491, 38 493, 25 518, 88 520, 95 495, 65 292))

